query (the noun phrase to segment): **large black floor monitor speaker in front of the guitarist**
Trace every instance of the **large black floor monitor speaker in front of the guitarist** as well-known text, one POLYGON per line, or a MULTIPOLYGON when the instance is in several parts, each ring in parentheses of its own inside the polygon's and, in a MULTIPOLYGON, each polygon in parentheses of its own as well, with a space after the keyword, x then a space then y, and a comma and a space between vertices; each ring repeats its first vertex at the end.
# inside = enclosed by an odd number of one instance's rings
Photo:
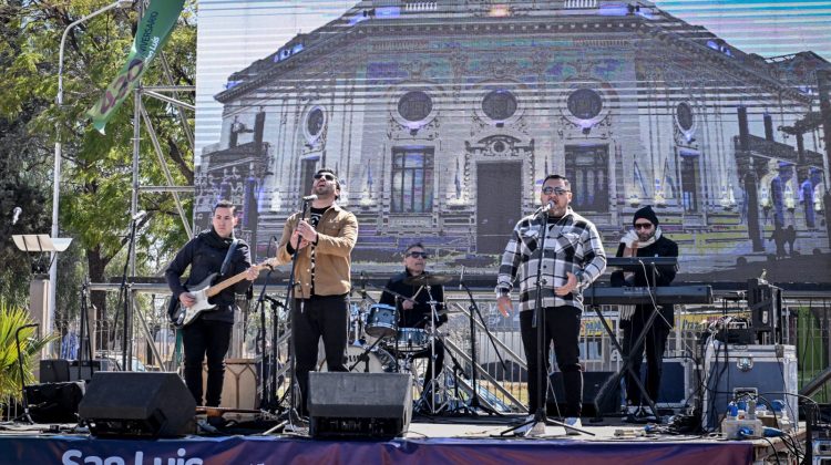
POLYGON ((79 415, 96 436, 181 436, 195 431, 196 401, 176 373, 99 371, 79 415))

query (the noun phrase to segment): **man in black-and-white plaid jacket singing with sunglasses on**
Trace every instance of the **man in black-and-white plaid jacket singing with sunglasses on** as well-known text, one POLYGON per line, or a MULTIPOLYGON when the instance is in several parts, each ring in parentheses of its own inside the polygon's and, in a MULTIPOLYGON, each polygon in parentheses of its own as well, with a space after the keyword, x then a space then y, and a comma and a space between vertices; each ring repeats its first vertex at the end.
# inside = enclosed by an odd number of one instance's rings
POLYGON ((513 311, 511 291, 520 283, 520 329, 529 365, 530 412, 544 407, 543 388, 540 405, 537 371, 537 333, 534 326, 537 269, 542 271, 543 363, 547 374, 551 342, 557 366, 563 372, 566 417, 579 417, 583 404, 583 373, 579 364, 579 328, 583 313, 583 290, 606 269, 606 252, 601 235, 588 219, 568 206, 571 183, 563 176, 548 175, 540 193, 543 205, 534 215, 516 224, 505 247, 496 281, 496 298, 503 314, 513 311), (541 254, 541 235, 545 250, 541 254), (542 267, 540 267, 542 260, 542 267))

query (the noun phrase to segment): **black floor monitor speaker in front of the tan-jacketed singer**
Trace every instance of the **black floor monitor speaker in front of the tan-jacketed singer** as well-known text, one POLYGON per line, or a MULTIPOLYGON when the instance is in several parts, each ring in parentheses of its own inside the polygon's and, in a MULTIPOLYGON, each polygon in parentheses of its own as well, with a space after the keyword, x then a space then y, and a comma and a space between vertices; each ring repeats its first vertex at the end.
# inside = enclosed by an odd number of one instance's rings
POLYGON ((312 437, 397 437, 412 417, 409 373, 309 373, 312 437))

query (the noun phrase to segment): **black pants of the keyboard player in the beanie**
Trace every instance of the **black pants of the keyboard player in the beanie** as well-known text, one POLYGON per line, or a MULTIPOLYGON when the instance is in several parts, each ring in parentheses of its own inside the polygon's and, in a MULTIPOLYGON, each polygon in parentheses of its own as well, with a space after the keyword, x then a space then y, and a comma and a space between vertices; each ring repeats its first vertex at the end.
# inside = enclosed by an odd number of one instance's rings
MULTIPOLYGON (((620 344, 624 350, 624 356, 627 358, 632 370, 640 376, 640 365, 644 359, 644 348, 646 348, 646 393, 653 400, 658 402, 658 392, 660 390, 660 373, 664 365, 664 349, 667 345, 669 335, 669 326, 660 316, 655 317, 653 326, 649 328, 644 342, 637 348, 633 348, 635 340, 638 339, 649 314, 653 312, 652 307, 638 306, 628 322, 622 322, 624 339, 620 344), (634 350, 633 350, 634 349, 634 350)), ((666 318, 666 311, 661 311, 666 318)), ((667 321, 671 322, 671 312, 667 321)), ((626 400, 628 404, 640 405, 640 390, 632 374, 626 372, 626 400)))

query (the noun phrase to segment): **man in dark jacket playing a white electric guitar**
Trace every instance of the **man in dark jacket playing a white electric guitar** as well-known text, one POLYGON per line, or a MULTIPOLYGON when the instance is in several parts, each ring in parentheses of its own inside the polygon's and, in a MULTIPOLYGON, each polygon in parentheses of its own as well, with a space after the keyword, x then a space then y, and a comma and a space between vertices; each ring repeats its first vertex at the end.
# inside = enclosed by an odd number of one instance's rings
POLYGON ((211 230, 201 232, 183 247, 165 271, 167 286, 173 298, 185 307, 196 303, 187 286, 195 286, 211 273, 218 273, 228 258, 228 265, 217 279, 245 272, 246 279, 228 287, 209 300, 216 307, 202 312, 196 319, 182 329, 182 342, 185 350, 185 384, 202 405, 202 363, 207 358, 207 389, 205 405, 219 406, 225 379, 225 354, 230 344, 230 330, 234 326, 235 293, 245 293, 257 278, 259 270, 252 268, 252 256, 248 244, 244 240, 234 242, 234 227, 237 217, 234 204, 219 200, 214 206, 211 217, 211 230), (235 249, 229 252, 232 244, 235 249), (191 275, 184 285, 181 277, 191 267, 191 275))

